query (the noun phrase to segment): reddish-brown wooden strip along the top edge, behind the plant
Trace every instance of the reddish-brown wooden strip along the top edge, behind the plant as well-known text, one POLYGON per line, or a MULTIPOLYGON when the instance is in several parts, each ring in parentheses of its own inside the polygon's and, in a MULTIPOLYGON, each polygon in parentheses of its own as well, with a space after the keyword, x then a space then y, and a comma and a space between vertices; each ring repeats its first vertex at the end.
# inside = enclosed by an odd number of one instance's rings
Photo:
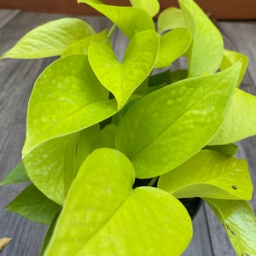
MULTIPOLYGON (((129 0, 105 0, 106 4, 130 5, 129 0)), ((195 0, 201 8, 220 20, 252 20, 256 19, 255 0, 195 0)), ((178 6, 177 0, 160 0, 161 9, 178 6)), ((84 3, 76 0, 0 0, 0 9, 21 9, 23 11, 46 12, 69 15, 98 15, 84 3)))

